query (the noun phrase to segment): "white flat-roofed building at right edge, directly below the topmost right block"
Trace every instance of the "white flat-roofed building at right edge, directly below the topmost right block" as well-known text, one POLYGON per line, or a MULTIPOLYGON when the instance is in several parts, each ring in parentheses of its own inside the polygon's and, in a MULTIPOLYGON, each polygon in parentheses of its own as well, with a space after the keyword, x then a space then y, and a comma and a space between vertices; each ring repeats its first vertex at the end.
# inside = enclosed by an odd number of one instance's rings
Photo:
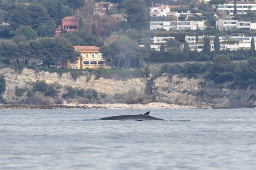
POLYGON ((238 20, 216 20, 216 28, 218 30, 253 30, 256 29, 256 23, 251 23, 250 21, 238 21, 238 20))

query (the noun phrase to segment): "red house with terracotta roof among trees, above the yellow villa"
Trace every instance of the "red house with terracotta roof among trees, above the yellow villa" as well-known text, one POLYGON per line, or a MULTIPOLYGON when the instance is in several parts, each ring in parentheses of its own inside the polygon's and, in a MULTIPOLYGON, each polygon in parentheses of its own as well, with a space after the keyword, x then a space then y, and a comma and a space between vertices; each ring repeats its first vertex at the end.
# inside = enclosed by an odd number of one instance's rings
POLYGON ((61 28, 67 32, 75 32, 79 29, 79 20, 76 17, 65 17, 62 19, 62 25, 56 29, 56 37, 61 34, 61 28))

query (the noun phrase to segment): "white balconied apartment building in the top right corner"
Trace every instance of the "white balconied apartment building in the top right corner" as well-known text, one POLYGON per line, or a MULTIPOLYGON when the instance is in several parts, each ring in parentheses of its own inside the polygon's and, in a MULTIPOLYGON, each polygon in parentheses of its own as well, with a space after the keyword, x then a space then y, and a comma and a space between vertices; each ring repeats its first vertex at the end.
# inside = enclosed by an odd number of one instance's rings
MULTIPOLYGON (((230 14, 234 13, 234 2, 228 1, 228 3, 224 3, 219 5, 217 8, 217 12, 219 14, 230 14)), ((251 10, 256 12, 256 2, 255 1, 236 1, 236 13, 237 14, 246 14, 247 10, 251 10)))

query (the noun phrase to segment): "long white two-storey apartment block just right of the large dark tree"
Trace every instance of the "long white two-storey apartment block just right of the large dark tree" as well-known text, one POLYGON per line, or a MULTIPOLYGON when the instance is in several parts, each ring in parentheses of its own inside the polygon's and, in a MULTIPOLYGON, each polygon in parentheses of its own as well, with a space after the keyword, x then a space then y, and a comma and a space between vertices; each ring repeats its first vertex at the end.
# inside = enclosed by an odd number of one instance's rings
POLYGON ((161 29, 169 30, 204 30, 206 22, 203 21, 151 21, 150 30, 158 31, 161 29))

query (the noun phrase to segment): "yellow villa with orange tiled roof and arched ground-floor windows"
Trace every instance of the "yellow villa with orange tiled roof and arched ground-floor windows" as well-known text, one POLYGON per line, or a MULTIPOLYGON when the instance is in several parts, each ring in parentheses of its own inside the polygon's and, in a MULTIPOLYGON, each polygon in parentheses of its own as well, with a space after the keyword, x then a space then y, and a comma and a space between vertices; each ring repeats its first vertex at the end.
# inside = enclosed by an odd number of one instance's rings
POLYGON ((99 47, 95 46, 74 46, 76 51, 80 52, 77 61, 68 62, 67 68, 86 69, 86 68, 106 68, 105 60, 99 52, 99 47))

